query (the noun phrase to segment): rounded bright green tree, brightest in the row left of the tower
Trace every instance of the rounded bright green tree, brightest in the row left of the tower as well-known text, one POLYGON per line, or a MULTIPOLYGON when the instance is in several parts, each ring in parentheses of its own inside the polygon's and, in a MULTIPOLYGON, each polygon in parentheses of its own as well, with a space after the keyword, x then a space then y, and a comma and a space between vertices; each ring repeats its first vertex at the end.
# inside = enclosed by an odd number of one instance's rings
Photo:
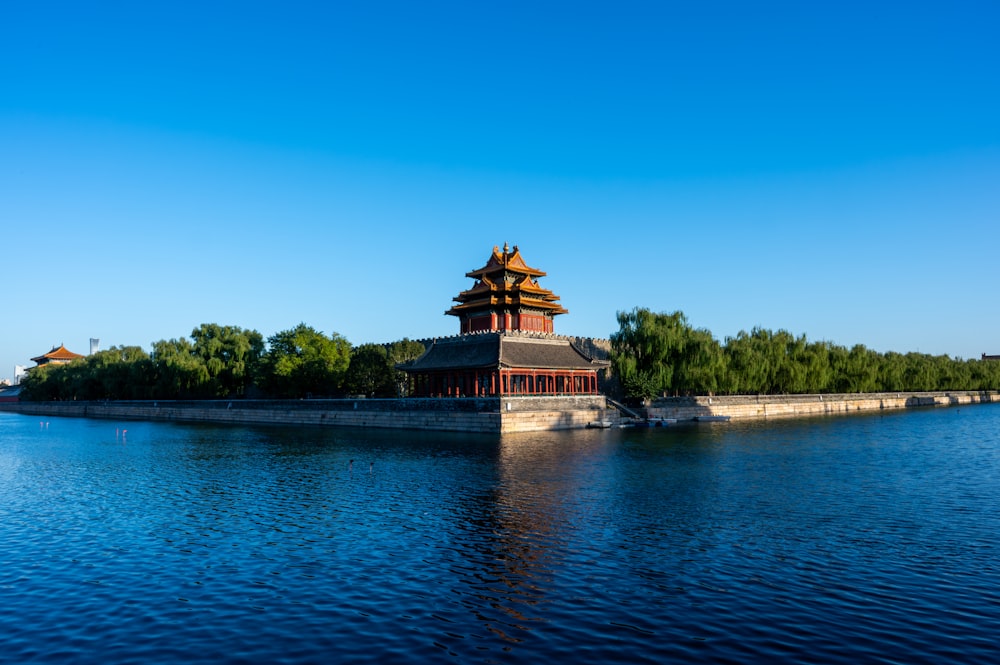
POLYGON ((272 335, 261 360, 259 385, 279 398, 331 395, 340 391, 350 364, 351 344, 300 323, 272 335))

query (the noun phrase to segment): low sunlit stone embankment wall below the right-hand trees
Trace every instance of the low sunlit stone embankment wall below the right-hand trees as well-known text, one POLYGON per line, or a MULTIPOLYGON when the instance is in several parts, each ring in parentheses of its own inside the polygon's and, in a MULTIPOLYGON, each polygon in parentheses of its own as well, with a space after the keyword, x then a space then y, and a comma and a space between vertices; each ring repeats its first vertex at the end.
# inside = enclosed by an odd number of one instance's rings
POLYGON ((864 393, 838 395, 735 395, 725 397, 662 397, 646 405, 650 418, 691 420, 698 416, 788 418, 1000 402, 996 391, 864 393))

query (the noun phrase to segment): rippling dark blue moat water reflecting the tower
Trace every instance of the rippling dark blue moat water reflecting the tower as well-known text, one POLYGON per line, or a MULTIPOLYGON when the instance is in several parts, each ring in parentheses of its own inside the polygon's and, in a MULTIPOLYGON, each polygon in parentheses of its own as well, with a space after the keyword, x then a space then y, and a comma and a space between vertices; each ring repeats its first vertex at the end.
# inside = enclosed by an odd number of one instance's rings
POLYGON ((998 662, 998 425, 0 414, 0 661, 998 662))

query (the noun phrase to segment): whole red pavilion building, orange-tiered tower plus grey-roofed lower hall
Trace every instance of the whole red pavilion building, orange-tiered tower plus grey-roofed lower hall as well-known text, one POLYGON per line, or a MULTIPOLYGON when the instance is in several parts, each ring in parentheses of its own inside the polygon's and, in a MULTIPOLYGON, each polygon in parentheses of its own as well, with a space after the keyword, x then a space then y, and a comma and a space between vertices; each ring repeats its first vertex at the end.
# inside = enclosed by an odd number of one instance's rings
POLYGON ((476 280, 472 288, 445 312, 458 317, 460 334, 434 340, 422 356, 400 366, 411 379, 411 395, 597 394, 597 372, 609 363, 553 333, 553 318, 567 310, 538 285, 543 276, 516 245, 494 247, 486 265, 466 273, 476 280))

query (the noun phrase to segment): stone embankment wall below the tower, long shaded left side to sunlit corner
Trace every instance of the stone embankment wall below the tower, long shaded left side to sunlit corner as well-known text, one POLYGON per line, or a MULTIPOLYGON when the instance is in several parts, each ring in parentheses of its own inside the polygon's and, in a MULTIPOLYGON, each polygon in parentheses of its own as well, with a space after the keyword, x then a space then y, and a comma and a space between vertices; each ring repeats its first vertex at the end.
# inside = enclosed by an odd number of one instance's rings
POLYGON ((316 425, 507 433, 617 422, 601 396, 459 399, 19 402, 29 415, 261 425, 316 425))

